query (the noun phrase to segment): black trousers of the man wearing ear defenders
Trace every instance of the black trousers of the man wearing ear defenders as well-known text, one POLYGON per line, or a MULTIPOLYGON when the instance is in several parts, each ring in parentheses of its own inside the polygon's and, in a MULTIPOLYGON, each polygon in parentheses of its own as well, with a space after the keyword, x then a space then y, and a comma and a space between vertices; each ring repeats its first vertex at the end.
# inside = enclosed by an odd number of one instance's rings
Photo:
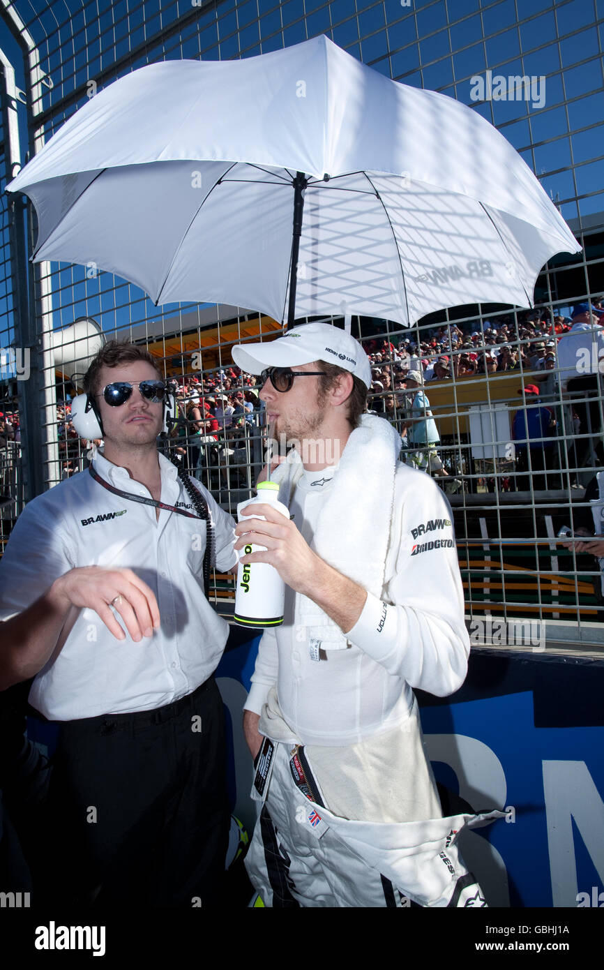
POLYGON ((230 821, 225 761, 213 677, 154 711, 64 723, 32 902, 218 905, 230 821))

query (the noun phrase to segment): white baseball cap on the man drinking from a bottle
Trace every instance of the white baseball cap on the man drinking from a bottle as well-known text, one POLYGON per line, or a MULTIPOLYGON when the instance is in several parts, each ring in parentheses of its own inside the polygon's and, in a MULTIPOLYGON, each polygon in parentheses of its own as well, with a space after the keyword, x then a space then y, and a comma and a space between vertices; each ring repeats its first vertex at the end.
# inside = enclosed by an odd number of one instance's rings
POLYGON ((304 323, 283 337, 262 343, 238 343, 233 360, 241 371, 262 373, 269 367, 292 367, 325 361, 371 385, 371 365, 358 340, 331 323, 304 323))

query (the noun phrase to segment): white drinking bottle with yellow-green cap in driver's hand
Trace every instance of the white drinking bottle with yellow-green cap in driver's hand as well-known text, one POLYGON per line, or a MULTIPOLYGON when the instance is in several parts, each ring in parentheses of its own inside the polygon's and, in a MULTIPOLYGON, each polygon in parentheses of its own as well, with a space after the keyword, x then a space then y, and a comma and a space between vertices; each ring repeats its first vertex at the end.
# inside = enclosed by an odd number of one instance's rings
MULTIPOLYGON (((264 516, 241 515, 246 505, 263 502, 278 509, 287 519, 290 513, 280 501, 279 486, 276 482, 259 482, 254 499, 240 501, 237 506, 238 521, 264 518, 264 516)), ((243 547, 243 553, 265 550, 266 546, 252 545, 243 547)), ((269 563, 239 563, 237 571, 237 592, 235 594, 235 622, 242 627, 278 627, 283 623, 285 583, 279 573, 269 563)))

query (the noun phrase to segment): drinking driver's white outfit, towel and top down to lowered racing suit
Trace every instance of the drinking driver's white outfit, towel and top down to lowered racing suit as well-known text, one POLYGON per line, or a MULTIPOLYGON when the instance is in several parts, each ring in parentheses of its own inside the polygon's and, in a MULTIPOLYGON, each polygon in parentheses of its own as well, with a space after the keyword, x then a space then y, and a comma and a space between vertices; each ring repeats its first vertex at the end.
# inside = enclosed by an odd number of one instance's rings
POLYGON ((266 905, 486 905, 457 837, 502 813, 440 818, 412 691, 450 695, 467 669, 452 516, 399 448, 365 415, 337 468, 288 456, 273 472, 302 538, 366 603, 344 634, 287 590, 260 643, 245 707, 276 743, 258 760, 266 801, 246 864, 266 905))

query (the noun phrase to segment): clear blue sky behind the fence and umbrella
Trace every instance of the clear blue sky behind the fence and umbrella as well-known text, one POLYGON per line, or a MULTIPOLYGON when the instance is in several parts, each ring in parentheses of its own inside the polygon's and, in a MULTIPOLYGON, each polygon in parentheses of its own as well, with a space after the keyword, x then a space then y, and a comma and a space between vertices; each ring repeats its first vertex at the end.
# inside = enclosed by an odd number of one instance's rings
MULTIPOLYGON (((107 70, 115 57, 136 48, 145 37, 152 38, 176 14, 187 15, 191 10, 188 0, 162 2, 160 23, 157 0, 145 0, 132 12, 133 4, 126 0, 99 0, 98 5, 80 0, 52 0, 49 4, 16 0, 15 7, 23 18, 32 20, 34 13, 39 15, 30 29, 41 46, 52 85, 51 90, 46 89, 45 107, 107 70), (101 12, 98 19, 92 16, 97 7, 101 12), (99 30, 105 32, 102 44, 99 30)), ((604 25, 595 23, 596 8, 591 0, 559 0, 556 4, 553 0, 523 0, 520 23, 514 0, 485 0, 482 4, 455 0, 448 8, 442 0, 414 0, 409 6, 395 0, 379 5, 357 0, 356 7, 358 16, 351 0, 332 0, 331 4, 305 0, 308 34, 326 32, 335 43, 373 62, 375 70, 388 76, 392 71, 405 83, 424 84, 458 97, 493 120, 521 151, 546 191, 559 201, 565 218, 573 220, 579 214, 576 194, 599 193, 580 201, 582 215, 604 210, 604 160, 598 157, 604 145, 600 56, 604 25), (544 104, 535 108, 524 99, 472 103, 471 78, 484 77, 487 71, 495 78, 544 78, 544 104)), ((200 20, 169 42, 165 56, 200 56, 201 50, 205 58, 229 57, 239 49, 248 56, 261 52, 261 38, 263 52, 296 44, 306 37, 303 9, 302 0, 288 0, 280 6, 275 0, 226 0, 217 8, 217 22, 200 11, 200 20)), ((598 13, 602 15, 602 11, 598 13)), ((24 86, 22 57, 3 21, 0 45, 15 64, 17 84, 24 86)), ((148 57, 160 56, 162 50, 150 43, 148 57)), ((144 62, 142 53, 135 66, 144 62)), ((24 110, 19 110, 19 120, 25 146, 24 110)), ((132 319, 157 318, 161 312, 138 288, 124 284, 115 289, 112 275, 90 278, 84 267, 61 268, 52 282, 53 290, 59 287, 60 299, 54 301, 56 326, 90 315, 101 319, 106 329, 113 329, 132 319)), ((163 311, 176 308, 163 307, 163 311)), ((0 292, 0 343, 6 342, 9 309, 0 292)))

